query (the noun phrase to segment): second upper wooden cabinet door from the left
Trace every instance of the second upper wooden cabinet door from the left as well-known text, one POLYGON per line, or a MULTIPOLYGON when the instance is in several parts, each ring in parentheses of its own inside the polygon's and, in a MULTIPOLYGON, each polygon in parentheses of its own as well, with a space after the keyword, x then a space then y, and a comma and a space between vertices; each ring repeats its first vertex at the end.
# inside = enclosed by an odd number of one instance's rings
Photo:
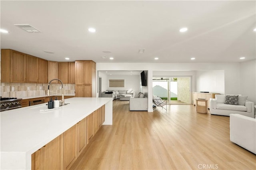
POLYGON ((38 57, 26 56, 26 83, 38 82, 38 57))

